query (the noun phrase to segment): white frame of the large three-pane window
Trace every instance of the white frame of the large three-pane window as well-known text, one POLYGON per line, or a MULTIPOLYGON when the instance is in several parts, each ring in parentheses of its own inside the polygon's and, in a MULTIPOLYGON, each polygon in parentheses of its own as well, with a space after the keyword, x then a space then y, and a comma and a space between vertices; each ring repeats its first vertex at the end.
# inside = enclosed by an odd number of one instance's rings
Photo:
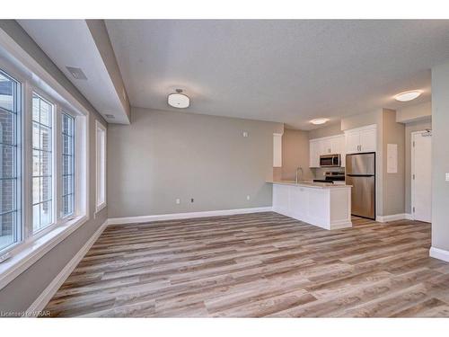
MULTIPOLYGON (((28 55, 21 50, 14 49, 13 46, 4 44, 4 36, 0 34, 0 68, 4 73, 21 85, 20 108, 18 114, 18 145, 21 147, 21 154, 17 156, 18 167, 20 167, 20 177, 18 179, 18 200, 20 199, 21 224, 20 238, 16 243, 10 244, 0 250, 0 257, 7 257, 7 260, 0 263, 0 289, 4 288, 11 280, 29 268, 40 257, 48 253, 53 247, 62 242, 68 235, 75 232, 77 228, 83 226, 90 219, 89 208, 89 125, 91 112, 87 111, 75 96, 59 84, 51 75, 41 68, 28 55), (42 228, 39 232, 32 234, 32 189, 31 189, 31 169, 32 169, 32 92, 38 93, 45 100, 55 104, 53 120, 53 144, 57 146, 54 151, 53 165, 59 165, 62 157, 58 147, 62 146, 62 141, 57 140, 58 130, 61 128, 58 123, 60 111, 64 111, 75 117, 75 133, 77 140, 75 143, 75 163, 78 163, 77 174, 75 176, 75 203, 76 212, 73 217, 59 217, 60 195, 53 195, 56 200, 54 212, 55 222, 51 226, 42 228), (20 137, 19 137, 20 133, 20 137), (30 230, 31 228, 31 230, 30 230)), ((53 189, 60 188, 60 182, 56 182, 57 175, 62 172, 62 168, 54 168, 53 189)), ((55 191, 54 191, 55 193, 55 191)))

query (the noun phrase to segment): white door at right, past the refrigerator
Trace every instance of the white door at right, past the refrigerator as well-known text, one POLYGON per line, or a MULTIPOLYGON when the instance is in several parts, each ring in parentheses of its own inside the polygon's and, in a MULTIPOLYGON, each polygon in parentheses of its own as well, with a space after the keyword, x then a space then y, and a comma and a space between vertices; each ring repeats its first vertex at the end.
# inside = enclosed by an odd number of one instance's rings
POLYGON ((419 221, 432 220, 432 137, 427 132, 411 137, 411 212, 419 221))

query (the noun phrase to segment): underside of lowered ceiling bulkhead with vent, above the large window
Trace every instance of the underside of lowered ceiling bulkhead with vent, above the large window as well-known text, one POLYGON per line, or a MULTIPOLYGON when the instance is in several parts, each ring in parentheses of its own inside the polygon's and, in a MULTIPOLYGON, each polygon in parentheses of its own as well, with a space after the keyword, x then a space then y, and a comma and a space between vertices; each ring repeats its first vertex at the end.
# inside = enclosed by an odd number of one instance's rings
POLYGON ((108 69, 84 20, 18 22, 103 117, 113 115, 111 121, 129 123, 108 69), (80 67, 87 80, 75 79, 66 66, 80 67))

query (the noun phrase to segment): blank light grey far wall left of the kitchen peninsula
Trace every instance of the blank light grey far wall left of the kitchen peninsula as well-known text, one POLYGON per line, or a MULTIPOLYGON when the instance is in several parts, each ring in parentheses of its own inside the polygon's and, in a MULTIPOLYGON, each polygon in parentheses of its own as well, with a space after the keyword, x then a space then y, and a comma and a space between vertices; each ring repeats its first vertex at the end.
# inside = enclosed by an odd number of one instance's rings
POLYGON ((131 125, 108 129, 109 217, 271 206, 279 123, 145 109, 131 116, 131 125))

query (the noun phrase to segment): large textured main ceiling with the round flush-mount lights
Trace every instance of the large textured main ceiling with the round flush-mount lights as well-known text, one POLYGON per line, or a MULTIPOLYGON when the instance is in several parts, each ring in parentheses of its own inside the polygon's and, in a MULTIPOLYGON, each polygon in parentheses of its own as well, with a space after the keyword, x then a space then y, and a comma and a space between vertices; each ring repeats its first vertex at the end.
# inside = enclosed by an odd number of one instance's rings
POLYGON ((449 21, 107 20, 132 106, 285 122, 338 120, 430 99, 430 68, 449 59, 449 21))

